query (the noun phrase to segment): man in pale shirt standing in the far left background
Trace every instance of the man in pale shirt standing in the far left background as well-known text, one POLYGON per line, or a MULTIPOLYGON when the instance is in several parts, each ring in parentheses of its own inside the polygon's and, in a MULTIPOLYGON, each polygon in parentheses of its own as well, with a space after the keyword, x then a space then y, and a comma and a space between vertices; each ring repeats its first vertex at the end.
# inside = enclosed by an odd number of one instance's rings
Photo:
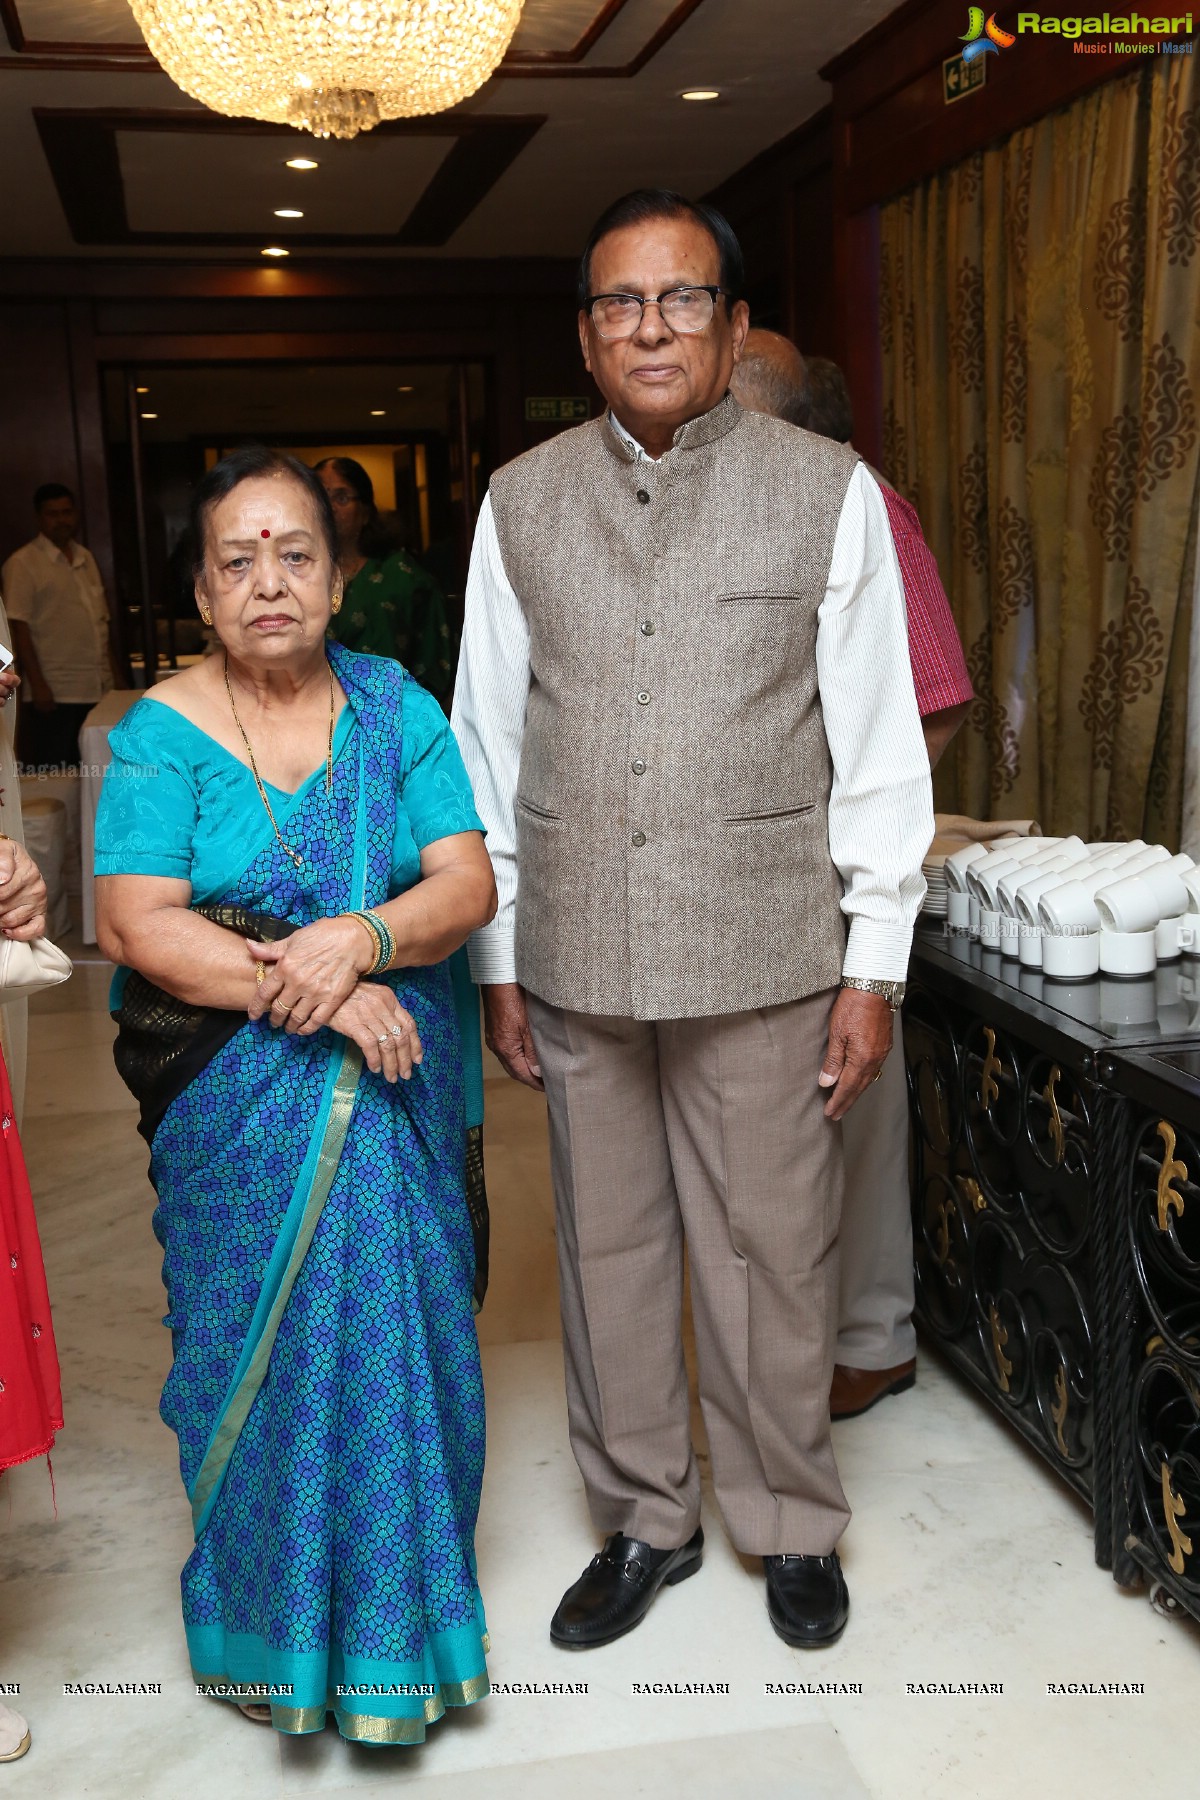
POLYGON ((79 765, 79 729, 113 686, 117 662, 101 572, 76 542, 74 493, 47 482, 34 515, 38 535, 9 556, 0 583, 23 684, 22 763, 45 772, 79 765))

